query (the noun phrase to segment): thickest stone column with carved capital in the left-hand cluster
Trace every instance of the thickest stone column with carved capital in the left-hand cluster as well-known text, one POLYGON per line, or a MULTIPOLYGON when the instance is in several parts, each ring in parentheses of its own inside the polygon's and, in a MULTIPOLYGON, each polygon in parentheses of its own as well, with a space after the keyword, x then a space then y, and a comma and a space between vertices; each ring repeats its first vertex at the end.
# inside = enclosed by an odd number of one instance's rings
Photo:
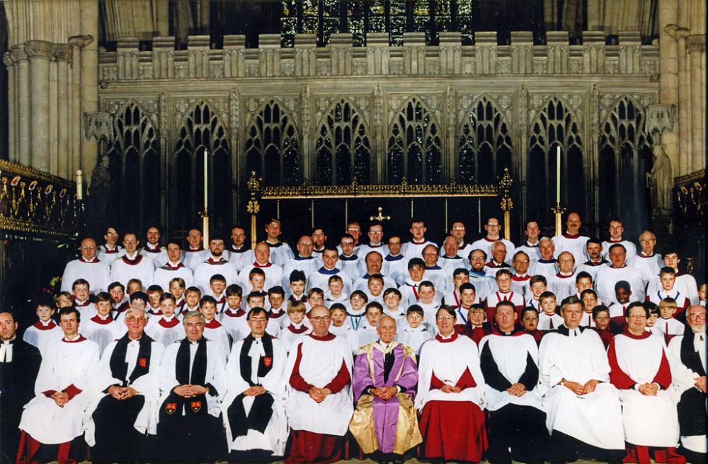
POLYGON ((54 44, 45 40, 29 40, 25 50, 30 58, 30 100, 32 103, 32 139, 30 164, 49 171, 49 60, 54 44))

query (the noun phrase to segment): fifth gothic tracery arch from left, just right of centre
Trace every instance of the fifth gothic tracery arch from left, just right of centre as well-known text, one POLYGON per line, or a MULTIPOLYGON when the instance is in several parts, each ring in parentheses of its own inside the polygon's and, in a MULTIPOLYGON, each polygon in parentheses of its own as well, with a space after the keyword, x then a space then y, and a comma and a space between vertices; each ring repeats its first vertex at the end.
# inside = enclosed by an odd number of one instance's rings
POLYGON ((442 182, 440 125, 418 98, 407 101, 394 117, 388 141, 388 183, 442 182))

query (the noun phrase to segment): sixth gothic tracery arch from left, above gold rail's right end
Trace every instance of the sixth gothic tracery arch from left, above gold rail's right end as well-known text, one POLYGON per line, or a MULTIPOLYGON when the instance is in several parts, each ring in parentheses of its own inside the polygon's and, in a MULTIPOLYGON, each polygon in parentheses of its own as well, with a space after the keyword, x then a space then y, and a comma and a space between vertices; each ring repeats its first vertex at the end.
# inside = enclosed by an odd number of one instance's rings
POLYGON ((511 169, 511 153, 508 121, 489 98, 480 98, 459 130, 459 182, 496 182, 504 168, 511 169))

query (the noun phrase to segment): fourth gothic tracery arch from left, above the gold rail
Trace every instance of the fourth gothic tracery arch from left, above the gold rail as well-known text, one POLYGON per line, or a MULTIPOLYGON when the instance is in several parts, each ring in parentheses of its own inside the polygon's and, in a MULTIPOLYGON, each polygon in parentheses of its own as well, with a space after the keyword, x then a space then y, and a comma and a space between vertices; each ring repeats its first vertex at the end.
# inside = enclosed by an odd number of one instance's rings
POLYGON ((316 141, 316 183, 370 183, 371 142, 360 112, 346 99, 324 115, 316 141))

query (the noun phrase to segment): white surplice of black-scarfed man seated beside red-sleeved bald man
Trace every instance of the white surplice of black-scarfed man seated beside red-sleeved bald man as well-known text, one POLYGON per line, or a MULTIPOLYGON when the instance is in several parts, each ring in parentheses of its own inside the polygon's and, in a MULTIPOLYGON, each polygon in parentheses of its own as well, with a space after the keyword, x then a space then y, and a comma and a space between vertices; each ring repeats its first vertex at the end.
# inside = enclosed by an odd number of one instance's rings
MULTIPOLYGON (((268 337, 268 335, 265 335, 265 337, 268 337)), ((229 361, 226 365, 228 386, 222 402, 222 417, 224 418, 224 428, 226 429, 229 448, 234 451, 260 449, 273 451, 273 456, 283 456, 285 453, 285 443, 287 442, 287 417, 285 417, 285 385, 287 378, 285 378, 285 364, 287 363, 287 354, 280 340, 273 338, 271 342, 273 342, 273 359, 271 361, 273 364, 268 374, 263 377, 258 376, 259 361, 261 356, 265 356, 263 343, 260 340, 254 341, 249 351, 251 383, 261 385, 265 388, 265 393, 263 394, 273 397, 273 416, 270 417, 268 427, 265 427, 263 433, 249 429, 244 436, 236 438, 232 436, 232 429, 229 424, 229 406, 232 405, 237 396, 244 393, 251 385, 241 376, 241 349, 244 346, 244 340, 234 343, 231 354, 229 354, 229 361)), ((246 396, 243 399, 246 417, 251 411, 254 398, 253 396, 246 396)))

